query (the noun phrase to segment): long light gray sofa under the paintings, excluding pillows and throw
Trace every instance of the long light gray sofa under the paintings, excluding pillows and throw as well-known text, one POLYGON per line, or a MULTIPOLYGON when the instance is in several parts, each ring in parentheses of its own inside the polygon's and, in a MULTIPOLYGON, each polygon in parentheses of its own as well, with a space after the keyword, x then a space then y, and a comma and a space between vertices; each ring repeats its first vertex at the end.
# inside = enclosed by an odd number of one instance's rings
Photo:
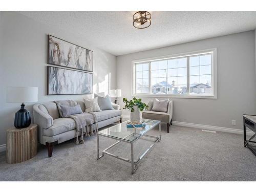
MULTIPOLYGON (((83 101, 76 101, 82 111, 86 110, 83 101)), ((97 113, 98 129, 111 123, 121 122, 119 105, 112 103, 114 110, 104 110, 97 113)), ((48 147, 48 156, 52 156, 53 145, 76 137, 76 124, 71 118, 60 118, 55 102, 37 103, 33 105, 34 122, 38 125, 38 140, 48 147)), ((95 125, 93 125, 95 130, 95 125)))

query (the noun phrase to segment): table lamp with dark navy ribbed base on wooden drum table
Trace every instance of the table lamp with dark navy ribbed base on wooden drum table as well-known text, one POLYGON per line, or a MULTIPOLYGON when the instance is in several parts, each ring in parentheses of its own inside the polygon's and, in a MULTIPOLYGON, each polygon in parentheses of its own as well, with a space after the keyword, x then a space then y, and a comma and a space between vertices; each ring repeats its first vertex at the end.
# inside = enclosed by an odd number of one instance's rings
POLYGON ((14 126, 17 129, 26 128, 31 124, 30 113, 25 109, 24 102, 36 102, 38 88, 36 87, 7 87, 7 102, 22 103, 15 113, 14 126))

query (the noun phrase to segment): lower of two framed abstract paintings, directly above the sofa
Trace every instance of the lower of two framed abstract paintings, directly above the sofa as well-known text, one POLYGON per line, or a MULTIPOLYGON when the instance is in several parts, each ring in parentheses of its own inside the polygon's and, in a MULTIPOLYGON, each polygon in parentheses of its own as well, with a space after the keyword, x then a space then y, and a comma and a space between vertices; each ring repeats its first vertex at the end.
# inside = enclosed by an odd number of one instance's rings
POLYGON ((93 74, 47 66, 47 95, 92 94, 93 74))

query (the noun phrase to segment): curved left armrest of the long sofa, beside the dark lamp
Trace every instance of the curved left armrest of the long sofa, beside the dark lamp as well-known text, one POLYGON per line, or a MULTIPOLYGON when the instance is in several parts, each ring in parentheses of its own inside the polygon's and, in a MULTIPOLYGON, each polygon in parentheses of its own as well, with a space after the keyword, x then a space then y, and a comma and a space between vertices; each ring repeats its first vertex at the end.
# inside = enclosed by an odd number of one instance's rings
POLYGON ((48 129, 53 125, 53 118, 44 112, 42 112, 38 106, 40 104, 33 105, 34 122, 42 129, 48 129))

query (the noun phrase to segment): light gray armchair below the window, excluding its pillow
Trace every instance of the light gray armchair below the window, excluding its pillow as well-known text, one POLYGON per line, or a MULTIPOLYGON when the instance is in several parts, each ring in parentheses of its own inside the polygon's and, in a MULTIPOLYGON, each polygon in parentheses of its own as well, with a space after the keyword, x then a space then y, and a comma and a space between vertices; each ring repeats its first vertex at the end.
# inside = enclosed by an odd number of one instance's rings
POLYGON ((148 102, 147 110, 142 112, 142 118, 159 120, 161 123, 167 124, 167 133, 169 133, 169 126, 173 124, 173 100, 170 99, 168 103, 167 113, 152 111, 154 99, 148 102))

